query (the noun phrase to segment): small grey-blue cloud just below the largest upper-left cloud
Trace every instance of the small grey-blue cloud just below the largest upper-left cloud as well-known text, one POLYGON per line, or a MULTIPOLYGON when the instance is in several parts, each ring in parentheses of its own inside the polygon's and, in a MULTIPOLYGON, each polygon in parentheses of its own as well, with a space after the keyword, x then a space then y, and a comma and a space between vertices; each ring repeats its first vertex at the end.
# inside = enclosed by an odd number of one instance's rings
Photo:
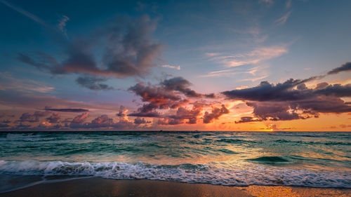
POLYGON ((79 78, 76 79, 76 82, 84 88, 91 90, 113 90, 114 88, 111 86, 102 83, 105 81, 107 81, 106 78, 97 76, 79 76, 79 78))

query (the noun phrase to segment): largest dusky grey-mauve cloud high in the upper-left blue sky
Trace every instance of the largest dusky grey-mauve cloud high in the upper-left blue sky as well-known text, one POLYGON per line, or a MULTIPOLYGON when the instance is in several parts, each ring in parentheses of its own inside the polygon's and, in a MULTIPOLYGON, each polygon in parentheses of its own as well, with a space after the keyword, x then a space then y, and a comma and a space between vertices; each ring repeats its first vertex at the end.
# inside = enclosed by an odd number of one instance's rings
POLYGON ((161 44, 150 39, 156 28, 156 20, 147 15, 140 18, 117 17, 104 27, 93 31, 90 37, 81 36, 73 41, 61 41, 62 62, 46 53, 26 55, 18 60, 51 74, 82 73, 99 76, 143 76, 154 67, 155 58, 161 53, 161 44), (105 48, 102 62, 97 62, 93 50, 105 48), (102 65, 102 67, 100 67, 102 65))

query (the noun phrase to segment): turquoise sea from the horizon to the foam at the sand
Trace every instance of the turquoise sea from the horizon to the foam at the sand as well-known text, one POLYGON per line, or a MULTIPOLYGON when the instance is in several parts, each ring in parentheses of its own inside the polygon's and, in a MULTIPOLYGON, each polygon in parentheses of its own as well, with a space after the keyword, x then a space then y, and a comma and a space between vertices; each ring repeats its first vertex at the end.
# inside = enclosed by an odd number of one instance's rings
POLYGON ((0 175, 351 188, 351 133, 0 133, 0 175))

